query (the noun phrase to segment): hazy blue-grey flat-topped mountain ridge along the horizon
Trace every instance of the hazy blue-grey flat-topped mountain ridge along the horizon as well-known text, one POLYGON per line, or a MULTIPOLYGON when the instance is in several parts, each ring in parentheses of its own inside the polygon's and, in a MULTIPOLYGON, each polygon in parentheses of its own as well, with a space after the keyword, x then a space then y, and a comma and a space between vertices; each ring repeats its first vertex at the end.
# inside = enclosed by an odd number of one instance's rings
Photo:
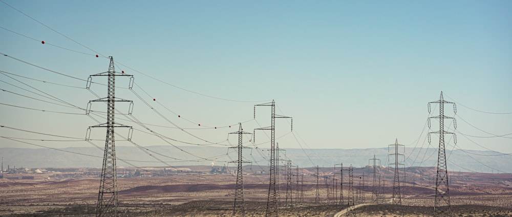
MULTIPOLYGON (((127 160, 127 162, 139 167, 169 167, 170 166, 185 166, 185 165, 224 165, 226 162, 237 159, 237 153, 234 149, 227 147, 205 147, 205 146, 179 146, 186 150, 188 153, 194 154, 198 157, 186 154, 172 146, 147 146, 145 147, 149 154, 144 153, 138 147, 130 146, 117 146, 116 156, 120 159, 127 160), (229 152, 228 152, 229 151, 229 152), (229 153, 229 154, 228 154, 229 153), (155 158, 156 159, 155 159, 155 158), (157 160, 159 159, 159 160, 157 160), (182 161, 187 160, 187 161, 182 161), (162 163, 163 161, 165 163, 162 163)), ((96 147, 69 147, 62 148, 59 151, 48 148, 0 148, 0 157, 4 157, 4 169, 8 166, 12 167, 25 167, 25 168, 48 168, 48 167, 101 167, 103 153, 96 147), (80 153, 82 155, 73 154, 80 153), (86 156, 89 155, 89 156, 86 156), (96 157, 92 157, 96 156, 96 157)), ((364 167, 368 164, 373 164, 369 159, 375 157, 380 159, 380 165, 389 166, 394 163, 393 150, 388 148, 360 148, 360 149, 300 149, 300 148, 287 148, 286 151, 281 151, 280 159, 290 159, 293 165, 300 167, 333 167, 334 164, 343 163, 344 166, 353 165, 354 167, 364 167), (388 157, 391 157, 388 161, 388 157)), ((403 153, 403 149, 400 153, 403 153)), ((453 171, 477 171, 498 173, 512 172, 510 169, 510 162, 512 156, 510 155, 496 155, 493 151, 479 151, 479 150, 446 150, 446 157, 448 158, 448 169, 453 171), (468 170, 466 170, 468 169, 468 170)), ((267 166, 268 161, 267 149, 244 149, 244 160, 252 161, 253 166, 267 166), (257 153, 261 151, 261 153, 257 153)), ((434 148, 406 148, 400 160, 403 163, 406 159, 405 166, 436 166, 437 162, 437 149, 434 148)), ((280 164, 285 164, 281 162, 280 164)), ((244 164, 244 165, 248 165, 244 164)), ((118 167, 131 167, 123 161, 117 161, 118 167)), ((234 166, 229 163, 228 166, 234 166)))

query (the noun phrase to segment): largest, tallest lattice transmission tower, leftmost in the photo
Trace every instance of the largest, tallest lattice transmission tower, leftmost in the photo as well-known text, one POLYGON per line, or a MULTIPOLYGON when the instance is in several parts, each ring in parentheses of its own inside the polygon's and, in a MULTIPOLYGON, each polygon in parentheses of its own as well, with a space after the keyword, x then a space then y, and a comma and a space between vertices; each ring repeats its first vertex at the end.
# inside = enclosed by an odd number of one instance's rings
MULTIPOLYGON (((110 57, 109 71, 91 76, 108 76, 108 96, 106 98, 96 99, 90 102, 106 102, 107 115, 106 123, 91 127, 106 127, 105 148, 103 154, 103 167, 101 169, 101 181, 98 193, 98 203, 96 206, 96 216, 119 216, 119 201, 117 198, 117 172, 116 172, 116 148, 114 139, 115 127, 130 127, 114 122, 115 102, 132 102, 115 97, 115 78, 116 76, 131 76, 123 73, 117 73, 114 69, 114 58, 110 57)), ((88 78, 87 89, 90 88, 92 77, 88 78)), ((88 104, 88 107, 90 105, 88 104)), ((89 113, 86 111, 86 113, 89 113)))

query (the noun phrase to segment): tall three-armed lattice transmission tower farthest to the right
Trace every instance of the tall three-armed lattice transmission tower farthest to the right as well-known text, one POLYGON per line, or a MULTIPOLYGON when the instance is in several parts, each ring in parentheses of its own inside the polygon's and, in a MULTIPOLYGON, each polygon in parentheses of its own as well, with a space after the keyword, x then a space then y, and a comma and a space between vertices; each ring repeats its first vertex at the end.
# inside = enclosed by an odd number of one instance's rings
MULTIPOLYGON (((457 113, 457 107, 455 103, 443 100, 443 92, 439 97, 439 101, 430 103, 439 103, 439 116, 429 118, 439 119, 439 131, 432 132, 439 134, 439 152, 437 155, 437 177, 436 177, 436 197, 434 201, 434 216, 452 216, 452 207, 450 205, 450 188, 448 186, 448 169, 446 168, 446 153, 444 149, 444 134, 453 134, 451 132, 444 131, 444 119, 454 119, 444 115, 444 104, 453 104, 454 114, 457 113)), ((429 103, 429 114, 430 114, 430 103, 429 103)), ((457 122, 454 119, 454 128, 457 128, 457 122)), ((429 134, 429 143, 431 142, 429 134)), ((457 144, 457 137, 454 134, 454 142, 457 144)))

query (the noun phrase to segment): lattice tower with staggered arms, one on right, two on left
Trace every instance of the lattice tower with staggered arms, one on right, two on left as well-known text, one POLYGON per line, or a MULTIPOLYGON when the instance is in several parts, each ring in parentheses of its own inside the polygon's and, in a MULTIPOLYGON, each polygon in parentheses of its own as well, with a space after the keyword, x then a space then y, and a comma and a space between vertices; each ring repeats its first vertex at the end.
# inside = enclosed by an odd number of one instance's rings
MULTIPOLYGON (((275 158, 275 118, 291 118, 285 117, 281 115, 275 115, 275 102, 263 103, 254 105, 254 119, 256 118, 256 106, 271 106, 271 116, 270 116, 270 126, 263 127, 258 129, 266 129, 270 130, 270 182, 268 187, 268 198, 267 198, 267 207, 265 211, 265 216, 278 216, 278 194, 279 192, 275 188, 276 185, 276 177, 278 175, 278 171, 276 170, 276 161, 275 158)), ((291 127, 293 130, 293 119, 291 122, 291 127)), ((278 153, 279 154, 279 153, 278 153)), ((279 163, 278 163, 279 164, 279 163)))

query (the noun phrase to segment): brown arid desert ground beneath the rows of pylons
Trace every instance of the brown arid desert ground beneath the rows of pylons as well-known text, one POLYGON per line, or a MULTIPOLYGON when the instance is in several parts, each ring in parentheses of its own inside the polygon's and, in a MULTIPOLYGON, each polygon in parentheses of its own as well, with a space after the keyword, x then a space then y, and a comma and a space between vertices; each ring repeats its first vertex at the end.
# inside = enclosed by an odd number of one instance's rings
MULTIPOLYGON (((209 173, 208 166, 193 166, 187 172, 163 175, 162 168, 145 168, 140 176, 124 176, 118 169, 119 206, 121 216, 233 216, 236 175, 209 173), (123 176, 123 177, 121 177, 123 176)), ((58 169, 57 169, 58 170, 58 169)), ((7 174, 0 180, 0 216, 91 216, 95 215, 98 198, 98 169, 76 168, 45 173, 7 174), (19 179, 8 177, 19 176, 19 179), (21 179, 21 177, 32 177, 21 179)), ((133 170, 126 168, 126 170, 133 170)), ((354 170, 361 179, 354 180, 353 209, 357 216, 432 216, 435 186, 423 174, 434 174, 432 168, 408 170, 401 185, 402 205, 391 205, 392 177, 383 176, 377 203, 372 203, 372 179, 364 178, 366 168, 354 170)), ((268 196, 268 175, 244 171, 245 214, 264 216, 268 196)), ((280 176, 280 216, 334 216, 347 208, 348 185, 341 185, 329 174, 319 177, 318 202, 315 203, 314 168, 297 172, 293 177, 291 199, 286 199, 286 176, 280 176), (302 188, 302 191, 300 190, 302 188), (297 190, 298 189, 298 190, 297 190), (343 202, 342 202, 343 201, 343 202), (339 205, 339 204, 344 205, 339 205)), ((334 177, 339 176, 334 175, 334 177)), ((389 175, 391 176, 391 175, 389 175)), ((347 179, 346 177, 344 180, 347 179)), ((454 216, 512 216, 512 175, 454 172, 450 196, 454 216)), ((345 214, 343 214, 345 216, 345 214)))

